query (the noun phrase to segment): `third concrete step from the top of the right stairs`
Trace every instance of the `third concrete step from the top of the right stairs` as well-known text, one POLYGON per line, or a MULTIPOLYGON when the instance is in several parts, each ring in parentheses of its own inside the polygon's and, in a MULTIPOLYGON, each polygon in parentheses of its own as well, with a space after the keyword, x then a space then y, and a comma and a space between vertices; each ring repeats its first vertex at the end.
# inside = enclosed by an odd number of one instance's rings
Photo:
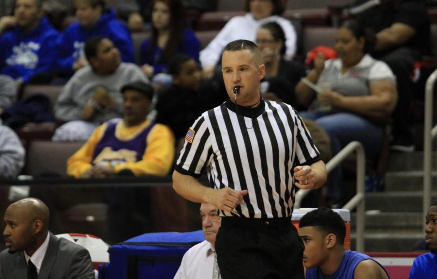
MULTIPOLYGON (((437 193, 432 193, 432 199, 437 199, 437 193)), ((381 212, 422 212, 422 191, 398 191, 366 194, 366 210, 381 212)))

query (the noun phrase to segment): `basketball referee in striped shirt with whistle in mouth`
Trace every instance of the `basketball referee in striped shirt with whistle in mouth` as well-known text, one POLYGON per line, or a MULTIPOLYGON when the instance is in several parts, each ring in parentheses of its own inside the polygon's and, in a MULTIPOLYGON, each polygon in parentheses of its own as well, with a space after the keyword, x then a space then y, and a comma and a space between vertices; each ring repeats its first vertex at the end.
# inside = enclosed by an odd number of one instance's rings
POLYGON ((265 68, 254 43, 229 43, 222 72, 230 99, 188 130, 173 188, 218 207, 216 251, 223 279, 303 279, 293 202, 297 188, 324 184, 325 164, 296 111, 260 98, 265 68), (211 187, 196 179, 204 171, 211 187))

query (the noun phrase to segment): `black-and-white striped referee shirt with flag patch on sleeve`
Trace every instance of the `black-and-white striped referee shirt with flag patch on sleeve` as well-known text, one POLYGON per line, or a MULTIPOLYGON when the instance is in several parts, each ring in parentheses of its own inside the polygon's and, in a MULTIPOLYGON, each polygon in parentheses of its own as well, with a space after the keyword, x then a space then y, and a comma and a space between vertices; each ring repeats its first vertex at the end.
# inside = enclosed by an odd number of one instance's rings
POLYGON ((248 190, 222 216, 290 216, 296 194, 293 167, 320 160, 301 117, 289 105, 260 100, 256 108, 228 100, 204 112, 185 137, 176 162, 182 174, 207 172, 211 187, 248 190))

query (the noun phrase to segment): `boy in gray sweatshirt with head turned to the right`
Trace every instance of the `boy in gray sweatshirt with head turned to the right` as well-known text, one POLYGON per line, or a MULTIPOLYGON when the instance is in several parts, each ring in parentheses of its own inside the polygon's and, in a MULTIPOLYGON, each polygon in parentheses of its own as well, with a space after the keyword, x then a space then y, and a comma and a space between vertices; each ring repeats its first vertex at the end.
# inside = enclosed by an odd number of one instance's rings
POLYGON ((84 51, 90 65, 74 74, 54 105, 57 119, 72 122, 59 127, 53 140, 86 140, 97 125, 122 116, 123 84, 148 82, 138 66, 121 63, 119 50, 108 38, 90 37, 84 51))

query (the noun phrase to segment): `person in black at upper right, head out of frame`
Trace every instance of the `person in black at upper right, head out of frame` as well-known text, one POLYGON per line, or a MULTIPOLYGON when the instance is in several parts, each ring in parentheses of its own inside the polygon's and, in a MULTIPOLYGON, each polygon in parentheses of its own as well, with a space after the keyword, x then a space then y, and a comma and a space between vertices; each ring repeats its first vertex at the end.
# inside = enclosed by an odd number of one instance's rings
MULTIPOLYGON (((376 33, 372 56, 387 63, 397 78, 398 104, 393 114, 390 149, 414 151, 408 113, 413 98, 413 67, 430 53, 430 18, 424 0, 381 0, 359 16, 376 33)), ((421 93, 421 92, 420 92, 421 93)))

